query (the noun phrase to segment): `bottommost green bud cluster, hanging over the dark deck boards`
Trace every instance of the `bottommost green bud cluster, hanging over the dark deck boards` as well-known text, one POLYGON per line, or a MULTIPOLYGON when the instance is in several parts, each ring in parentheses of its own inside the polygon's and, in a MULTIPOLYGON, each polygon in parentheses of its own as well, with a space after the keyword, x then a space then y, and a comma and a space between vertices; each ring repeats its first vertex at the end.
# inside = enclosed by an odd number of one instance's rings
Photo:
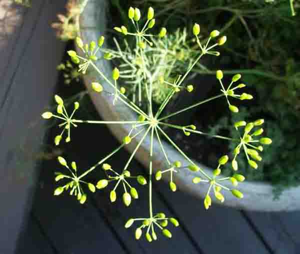
POLYGON ((140 239, 142 229, 146 228, 145 238, 149 242, 157 240, 157 235, 154 230, 155 226, 158 227, 167 238, 172 237, 171 232, 165 228, 168 225, 168 221, 175 227, 179 226, 179 222, 175 218, 167 218, 164 213, 160 212, 150 218, 130 218, 125 223, 125 228, 129 228, 135 221, 142 221, 141 225, 135 229, 135 239, 140 239))

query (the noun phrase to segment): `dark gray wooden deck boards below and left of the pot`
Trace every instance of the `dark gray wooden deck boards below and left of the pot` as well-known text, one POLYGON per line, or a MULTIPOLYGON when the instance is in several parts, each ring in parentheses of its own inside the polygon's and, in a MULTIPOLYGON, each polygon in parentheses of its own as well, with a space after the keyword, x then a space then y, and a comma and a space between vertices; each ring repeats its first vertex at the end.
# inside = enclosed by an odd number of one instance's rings
MULTIPOLYGON (((42 140, 45 128, 39 115, 53 94, 55 66, 64 51, 49 28, 64 1, 36 2, 31 9, 19 9, 22 19, 0 50, 0 254, 300 253, 300 212, 247 212, 216 204, 206 211, 202 200, 154 182, 154 210, 178 218, 180 227, 170 226, 171 239, 160 236, 149 244, 135 240, 132 228, 124 228, 129 217, 147 214, 146 187, 139 187, 140 198, 128 208, 121 200, 111 204, 105 190, 89 195, 84 205, 67 195, 54 197, 56 160, 37 165, 36 160, 19 160, 24 151, 36 153, 57 133, 51 129, 42 140)), ((105 126, 77 129, 62 152, 76 160, 79 170, 118 144, 105 126)), ((127 157, 124 150, 118 153, 114 166, 121 167, 127 157)), ((130 170, 145 169, 132 161, 130 170)))

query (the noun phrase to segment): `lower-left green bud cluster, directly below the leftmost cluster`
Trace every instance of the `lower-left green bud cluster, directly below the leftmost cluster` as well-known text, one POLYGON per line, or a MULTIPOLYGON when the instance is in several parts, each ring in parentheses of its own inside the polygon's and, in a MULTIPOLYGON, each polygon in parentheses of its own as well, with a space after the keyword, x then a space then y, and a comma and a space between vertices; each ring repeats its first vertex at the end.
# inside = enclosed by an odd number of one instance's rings
POLYGON ((89 191, 91 192, 95 192, 96 190, 95 186, 90 182, 85 182, 81 180, 80 176, 79 177, 77 176, 77 166, 74 161, 71 162, 71 168, 69 168, 64 158, 59 156, 57 159, 62 166, 68 169, 70 174, 66 175, 61 172, 55 172, 56 182, 64 179, 67 180, 67 183, 57 187, 54 190, 54 195, 55 196, 60 195, 63 191, 70 189, 69 194, 76 196, 80 204, 83 204, 86 201, 86 194, 84 193, 84 190, 81 185, 87 185, 89 191))

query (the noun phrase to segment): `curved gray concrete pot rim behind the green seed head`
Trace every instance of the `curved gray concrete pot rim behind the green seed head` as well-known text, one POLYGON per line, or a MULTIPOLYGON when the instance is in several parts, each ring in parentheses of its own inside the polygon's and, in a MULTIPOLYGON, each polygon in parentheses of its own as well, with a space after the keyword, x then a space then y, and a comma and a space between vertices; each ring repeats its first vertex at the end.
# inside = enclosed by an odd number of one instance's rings
MULTIPOLYGON (((80 18, 81 38, 84 42, 90 42, 91 40, 97 41, 101 35, 105 36, 106 33, 106 12, 107 1, 105 0, 89 0, 83 14, 80 18)), ((97 67, 102 70, 103 73, 107 73, 107 77, 111 76, 112 66, 109 61, 99 60, 97 67)), ((123 104, 112 105, 112 98, 102 94, 95 94, 91 91, 91 81, 97 80, 101 82, 106 91, 112 91, 111 87, 101 80, 98 75, 91 73, 84 78, 86 88, 92 99, 92 102, 97 109, 98 113, 104 120, 135 120, 136 115, 130 109, 123 104)), ((127 135, 129 127, 126 125, 108 125, 113 135, 122 140, 127 135)), ((126 148, 131 152, 139 138, 132 141, 126 148)), ((183 165, 187 165, 188 162, 171 147, 164 142, 164 147, 167 150, 168 157, 171 161, 180 160, 183 165)), ((166 167, 163 154, 160 151, 158 141, 154 141, 154 153, 153 153, 153 165, 154 171, 157 169, 163 169, 166 167)), ((145 167, 149 164, 149 137, 145 139, 141 147, 135 156, 145 167)), ((198 163, 206 173, 211 175, 211 169, 205 167, 200 162, 198 163)), ((191 182, 194 176, 199 176, 198 173, 193 173, 188 170, 181 170, 175 174, 174 182, 178 188, 182 191, 188 192, 196 197, 203 198, 206 194, 207 186, 203 184, 193 184, 191 182)), ((279 200, 273 200, 272 186, 265 182, 252 182, 245 181, 239 185, 239 190, 244 193, 243 199, 237 199, 231 195, 230 192, 224 191, 225 201, 224 205, 232 206, 247 210, 257 211, 291 211, 300 209, 300 187, 290 188, 285 190, 280 196, 279 200)), ((174 193, 176 195, 176 193, 174 193)))

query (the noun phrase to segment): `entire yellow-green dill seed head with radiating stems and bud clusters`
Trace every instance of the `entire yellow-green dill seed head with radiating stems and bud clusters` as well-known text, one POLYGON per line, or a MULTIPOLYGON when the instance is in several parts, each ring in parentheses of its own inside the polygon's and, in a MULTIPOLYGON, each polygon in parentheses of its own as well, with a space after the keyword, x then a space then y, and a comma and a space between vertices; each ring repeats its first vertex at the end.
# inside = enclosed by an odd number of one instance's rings
MULTIPOLYGON (((200 26, 198 24, 194 24, 192 28, 192 34, 195 38, 196 42, 196 51, 197 54, 194 54, 192 59, 185 59, 187 61, 186 70, 182 71, 181 74, 177 75, 173 79, 169 80, 159 80, 162 85, 165 85, 169 88, 167 95, 164 96, 162 103, 160 104, 157 111, 154 111, 152 101, 155 98, 155 89, 159 89, 155 87, 155 82, 157 82, 157 77, 163 75, 166 70, 161 69, 159 65, 157 68, 148 68, 148 52, 151 51, 153 45, 158 44, 158 41, 161 38, 166 36, 166 28, 161 28, 158 35, 153 35, 150 33, 151 28, 155 24, 154 20, 154 10, 152 8, 148 9, 146 22, 141 24, 141 13, 139 9, 129 8, 128 10, 128 18, 130 22, 135 27, 135 31, 128 31, 125 26, 115 27, 114 29, 123 34, 124 36, 132 36, 136 40, 135 47, 132 49, 126 49, 125 53, 131 52, 135 58, 139 58, 139 63, 131 66, 132 63, 130 61, 127 62, 126 68, 130 71, 135 70, 140 72, 138 85, 140 86, 140 90, 145 91, 145 98, 141 98, 142 103, 146 104, 146 110, 141 109, 134 101, 133 98, 128 98, 126 96, 126 89, 124 87, 119 87, 118 82, 119 78, 124 75, 124 72, 119 71, 117 67, 115 67, 111 73, 111 77, 106 77, 103 72, 95 65, 95 61, 100 57, 97 53, 100 51, 104 37, 101 36, 98 42, 89 42, 88 44, 84 44, 80 38, 76 38, 77 47, 82 51, 82 54, 78 55, 75 51, 68 51, 68 55, 73 63, 78 64, 78 72, 85 74, 86 71, 91 68, 93 69, 101 78, 101 80, 105 81, 109 86, 113 88, 113 92, 110 93, 103 89, 103 86, 99 82, 92 82, 91 88, 95 93, 108 93, 113 100, 113 104, 122 103, 124 106, 130 108, 134 111, 136 115, 136 119, 132 121, 90 121, 90 120, 79 120, 75 119, 75 112, 79 107, 79 103, 74 103, 74 109, 71 113, 68 113, 64 107, 64 103, 61 97, 55 95, 54 99, 57 103, 57 113, 45 112, 42 114, 44 119, 56 118, 61 120, 59 127, 62 131, 55 137, 54 142, 56 145, 59 145, 62 138, 65 139, 65 142, 70 142, 70 131, 72 128, 78 127, 80 124, 127 124, 131 126, 128 134, 123 137, 122 143, 115 148, 111 153, 105 155, 98 162, 96 162, 93 166, 91 166, 86 171, 81 171, 80 168, 77 168, 75 162, 71 162, 70 166, 67 161, 58 157, 58 162, 66 168, 64 172, 56 173, 55 181, 59 182, 59 186, 54 190, 54 195, 60 195, 63 192, 69 191, 70 195, 76 196, 77 200, 83 204, 87 200, 88 192, 95 192, 96 189, 109 188, 110 195, 109 199, 111 202, 114 202, 118 196, 117 190, 122 190, 122 201, 125 206, 129 206, 133 203, 134 199, 139 198, 138 190, 133 187, 134 182, 137 182, 140 185, 147 185, 149 189, 149 213, 141 214, 141 217, 137 218, 129 218, 125 223, 125 227, 129 228, 131 225, 135 225, 135 238, 139 239, 144 232, 145 238, 150 242, 152 240, 157 239, 156 232, 160 231, 165 237, 170 238, 172 236, 169 229, 166 226, 170 222, 174 226, 178 226, 179 223, 175 218, 167 217, 163 212, 156 211, 155 207, 152 206, 152 181, 153 178, 156 180, 160 180, 162 175, 165 175, 167 179, 169 179, 169 187, 172 191, 176 191, 176 182, 173 179, 173 175, 181 170, 190 170, 193 172, 198 172, 200 177, 193 178, 191 184, 202 184, 203 188, 207 188, 207 194, 204 199, 204 207, 206 209, 211 205, 211 196, 215 196, 217 200, 220 202, 224 201, 224 196, 222 192, 230 191, 232 195, 236 198, 242 198, 243 194, 236 189, 238 182, 242 182, 244 177, 241 174, 237 174, 234 172, 230 177, 221 177, 220 173, 224 165, 226 165, 229 161, 227 155, 223 155, 219 158, 219 160, 215 163, 216 169, 213 170, 211 175, 206 174, 200 167, 198 167, 194 161, 192 161, 188 155, 186 155, 173 141, 172 139, 162 130, 162 126, 166 126, 168 128, 174 128, 178 131, 182 131, 186 136, 189 135, 209 135, 208 133, 204 133, 202 131, 196 130, 196 126, 191 124, 188 126, 179 126, 173 125, 165 122, 166 119, 176 116, 177 114, 183 113, 189 109, 194 107, 198 107, 203 103, 216 100, 216 99, 224 99, 225 103, 228 106, 228 109, 237 114, 238 108, 234 105, 234 100, 249 100, 252 99, 252 96, 246 93, 237 93, 240 89, 242 89, 245 85, 239 84, 238 80, 241 78, 240 74, 236 74, 232 77, 232 80, 229 85, 225 85, 222 82, 223 73, 218 70, 216 72, 216 79, 220 84, 220 93, 211 98, 207 98, 206 100, 199 101, 195 104, 192 104, 186 108, 183 108, 179 111, 173 112, 168 115, 162 116, 164 109, 168 102, 181 90, 187 90, 188 92, 193 91, 192 85, 184 85, 184 81, 188 77, 188 74, 191 72, 192 68, 198 63, 198 61, 203 56, 219 56, 219 52, 216 51, 216 48, 222 46, 226 42, 225 36, 219 36, 220 33, 217 30, 213 30, 205 43, 201 43, 199 41, 200 35, 200 26), (157 41, 158 40, 158 41, 157 41), (135 69, 134 69, 134 68, 135 69), (131 69, 130 69, 131 68, 131 69), (136 137, 137 144, 129 156, 128 160, 124 164, 123 168, 114 168, 113 165, 107 163, 107 160, 113 157, 122 147, 131 143, 133 139, 136 137), (149 147, 149 167, 148 167, 148 177, 142 175, 131 175, 129 169, 129 165, 131 160, 133 159, 136 151, 143 143, 145 138, 149 136, 150 138, 150 147, 149 147), (168 154, 166 153, 163 143, 161 142, 161 137, 164 137, 184 158, 188 161, 188 164, 182 165, 180 161, 170 161, 168 154), (164 154, 164 159, 167 164, 165 169, 157 170, 155 176, 152 174, 152 156, 153 156, 153 140, 157 139, 159 143, 159 147, 161 152, 164 154), (99 179, 96 183, 86 182, 84 181, 84 177, 97 167, 101 167, 105 173, 105 178, 99 179), (63 183, 62 183, 63 182, 63 183), (225 186, 228 182, 232 185, 232 188, 225 186)), ((179 34, 178 34, 179 35, 179 34)), ((156 46, 155 46, 156 47, 156 46)), ((179 47, 179 46, 178 46, 179 47)), ((107 51, 107 50, 105 50, 107 51)), ((121 54, 122 51, 111 51, 106 52, 104 54, 104 58, 107 59, 107 53, 117 55, 121 54)), ((152 54, 152 53, 151 53, 152 54)), ((163 61, 171 61, 170 55, 168 59, 163 59, 163 61)), ((156 58, 156 56, 150 55, 150 58, 156 58)), ((175 56, 174 56, 175 59, 175 56)), ((131 83, 129 83, 131 84, 131 83)), ((131 84, 132 87, 135 86, 135 83, 131 84)), ((138 86, 137 86, 138 87, 138 86)), ((138 89, 138 88, 137 88, 138 89)), ((132 96, 130 96, 132 97, 132 96)), ((239 120, 234 124, 236 131, 242 128, 241 135, 239 138, 231 138, 224 137, 219 135, 209 135, 212 138, 220 138, 233 142, 235 144, 235 156, 231 161, 231 165, 234 171, 238 170, 238 164, 236 161, 236 157, 243 151, 248 159, 248 164, 257 168, 257 163, 255 161, 261 161, 261 157, 258 154, 258 151, 262 151, 262 145, 268 145, 271 143, 271 140, 266 137, 260 137, 262 133, 260 125, 263 123, 262 119, 258 119, 254 122, 246 123, 245 121, 239 120)))

